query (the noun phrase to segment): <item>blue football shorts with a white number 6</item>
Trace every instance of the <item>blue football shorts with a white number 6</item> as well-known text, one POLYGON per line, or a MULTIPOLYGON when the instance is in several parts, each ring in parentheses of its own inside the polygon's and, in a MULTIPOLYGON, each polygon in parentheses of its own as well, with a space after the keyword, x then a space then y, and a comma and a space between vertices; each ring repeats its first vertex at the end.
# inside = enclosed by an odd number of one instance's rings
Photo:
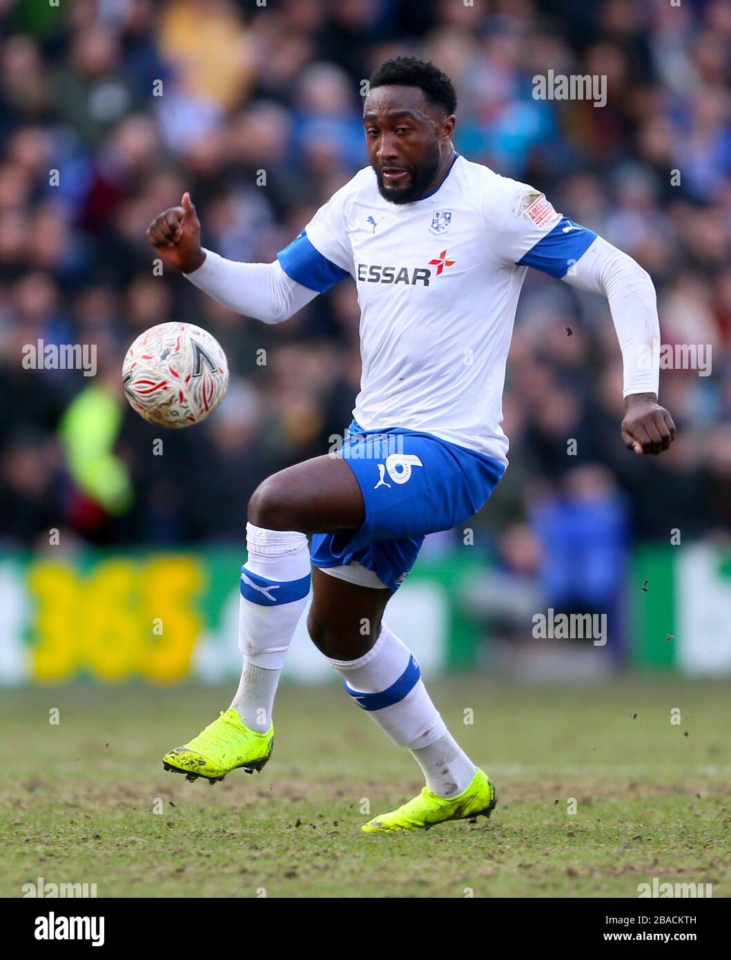
POLYGON ((391 590, 406 579, 424 537, 474 516, 506 469, 429 433, 366 431, 355 420, 338 455, 363 492, 365 520, 358 530, 314 534, 312 564, 360 564, 391 590))

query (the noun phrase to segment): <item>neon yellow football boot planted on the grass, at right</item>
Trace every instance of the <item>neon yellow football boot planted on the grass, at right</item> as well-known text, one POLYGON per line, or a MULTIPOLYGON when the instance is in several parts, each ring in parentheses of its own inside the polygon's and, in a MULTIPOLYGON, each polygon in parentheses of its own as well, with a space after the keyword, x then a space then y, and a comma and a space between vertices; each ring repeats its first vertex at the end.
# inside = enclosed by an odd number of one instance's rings
POLYGON ((465 820, 469 817, 489 817, 498 802, 492 781, 479 767, 466 790, 456 797, 439 797, 428 787, 390 813, 369 820, 361 829, 365 833, 392 833, 396 830, 428 830, 447 820, 465 820))

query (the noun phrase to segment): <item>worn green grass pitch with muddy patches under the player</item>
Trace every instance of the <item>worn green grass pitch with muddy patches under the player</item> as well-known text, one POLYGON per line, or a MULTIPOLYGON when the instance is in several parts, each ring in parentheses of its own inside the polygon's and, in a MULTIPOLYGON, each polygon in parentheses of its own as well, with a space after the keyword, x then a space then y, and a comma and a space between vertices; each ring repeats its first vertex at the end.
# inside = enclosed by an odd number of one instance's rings
POLYGON ((283 685, 268 766, 214 786, 163 772, 160 757, 230 688, 5 690, 0 895, 42 876, 96 883, 99 897, 634 898, 657 876, 731 896, 727 684, 481 677, 431 691, 498 807, 489 821, 369 836, 362 811, 392 809, 422 781, 339 684, 283 685))

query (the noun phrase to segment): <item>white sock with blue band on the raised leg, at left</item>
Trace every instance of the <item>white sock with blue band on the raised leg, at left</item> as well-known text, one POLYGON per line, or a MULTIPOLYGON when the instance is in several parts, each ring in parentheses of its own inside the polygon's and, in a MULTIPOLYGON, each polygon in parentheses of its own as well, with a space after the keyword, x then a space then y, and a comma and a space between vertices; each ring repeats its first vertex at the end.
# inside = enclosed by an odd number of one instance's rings
POLYGON ((239 649, 244 654, 231 707, 250 730, 264 733, 279 675, 310 592, 305 534, 247 524, 248 560, 241 568, 239 649))

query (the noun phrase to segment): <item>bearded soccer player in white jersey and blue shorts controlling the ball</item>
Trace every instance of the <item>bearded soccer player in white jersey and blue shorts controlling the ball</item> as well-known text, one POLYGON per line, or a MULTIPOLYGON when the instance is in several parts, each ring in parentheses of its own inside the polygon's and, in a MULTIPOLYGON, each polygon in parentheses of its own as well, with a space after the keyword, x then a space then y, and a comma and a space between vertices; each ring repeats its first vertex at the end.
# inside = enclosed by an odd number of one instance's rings
POLYGON ((189 779, 261 770, 279 674, 312 580, 310 636, 426 780, 413 800, 365 824, 368 832, 489 815, 497 801, 383 615, 424 536, 473 516, 507 467, 502 392, 528 267, 607 298, 624 358, 625 445, 657 454, 675 431, 657 403, 659 327, 648 274, 540 191, 460 156, 456 107, 453 84, 434 64, 383 63, 364 104, 370 165, 273 263, 203 249, 187 193, 147 234, 165 263, 267 324, 347 277, 356 282, 363 375, 348 436, 340 454, 282 470, 251 497, 241 682, 230 708, 164 765, 189 779))

